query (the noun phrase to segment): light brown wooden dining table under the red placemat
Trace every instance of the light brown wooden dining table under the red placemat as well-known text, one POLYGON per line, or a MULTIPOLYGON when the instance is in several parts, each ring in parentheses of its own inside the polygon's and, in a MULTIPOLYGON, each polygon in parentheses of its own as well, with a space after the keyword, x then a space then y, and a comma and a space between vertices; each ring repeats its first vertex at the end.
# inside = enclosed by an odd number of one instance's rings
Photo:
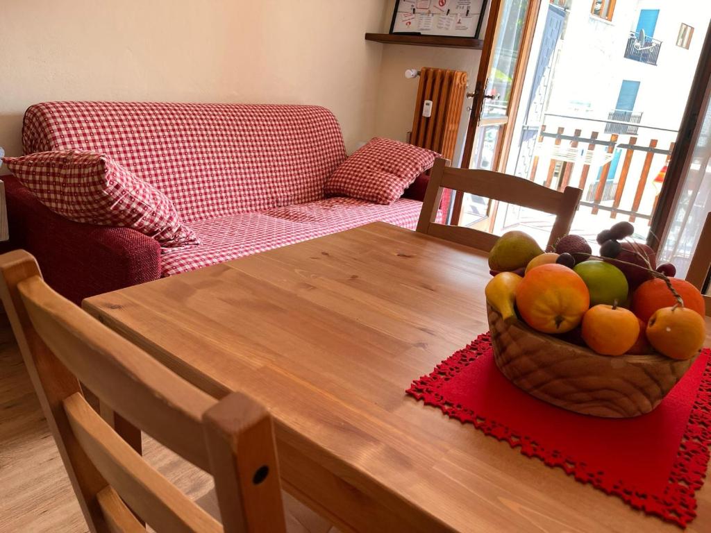
MULTIPOLYGON (((405 394, 488 330, 489 279, 486 254, 376 222, 83 306, 267 406, 284 488, 343 531, 678 531, 405 394)), ((710 494, 688 531, 711 531, 710 494)))

